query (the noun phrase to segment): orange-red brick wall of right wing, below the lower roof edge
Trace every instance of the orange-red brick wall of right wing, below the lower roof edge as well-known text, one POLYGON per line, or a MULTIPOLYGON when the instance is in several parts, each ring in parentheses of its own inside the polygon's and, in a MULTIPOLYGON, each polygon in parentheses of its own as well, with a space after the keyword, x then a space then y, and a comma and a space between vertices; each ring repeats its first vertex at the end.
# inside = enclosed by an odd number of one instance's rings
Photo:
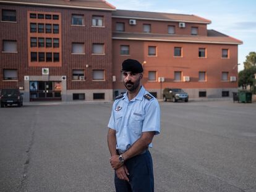
POLYGON ((237 88, 237 81, 221 81, 221 72, 237 77, 237 45, 168 43, 155 41, 113 41, 113 73, 117 77, 114 89, 122 89, 121 63, 125 59, 146 61, 143 84, 148 89, 160 88, 158 82, 148 82, 148 71, 156 71, 156 78, 164 77, 163 87, 177 88, 237 88), (130 46, 130 56, 120 55, 120 45, 130 46), (157 56, 148 56, 148 46, 156 46, 157 56), (174 57, 174 47, 182 47, 182 57, 174 57), (207 57, 198 57, 198 48, 206 48, 207 57), (229 49, 229 59, 221 59, 221 49, 229 49), (189 76, 189 82, 174 82, 174 71, 189 76), (198 82, 198 72, 206 72, 207 81, 198 82))

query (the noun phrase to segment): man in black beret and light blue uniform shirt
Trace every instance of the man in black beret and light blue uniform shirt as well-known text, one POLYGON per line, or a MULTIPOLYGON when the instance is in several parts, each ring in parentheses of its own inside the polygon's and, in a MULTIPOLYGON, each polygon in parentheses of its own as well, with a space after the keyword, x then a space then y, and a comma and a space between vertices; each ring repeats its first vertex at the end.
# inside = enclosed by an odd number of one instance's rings
POLYGON ((160 133, 158 101, 141 85, 139 61, 122 62, 127 92, 116 97, 108 123, 110 164, 117 192, 154 191, 153 163, 148 147, 160 133))

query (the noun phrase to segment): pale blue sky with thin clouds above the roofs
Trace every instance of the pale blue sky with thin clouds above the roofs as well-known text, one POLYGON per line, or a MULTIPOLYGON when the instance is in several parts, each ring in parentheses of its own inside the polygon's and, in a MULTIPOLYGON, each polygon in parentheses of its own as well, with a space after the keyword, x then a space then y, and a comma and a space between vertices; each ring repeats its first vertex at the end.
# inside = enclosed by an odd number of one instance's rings
POLYGON ((255 0, 106 0, 116 9, 194 14, 211 20, 208 30, 216 30, 243 41, 238 46, 238 70, 244 69, 249 52, 256 52, 255 0))

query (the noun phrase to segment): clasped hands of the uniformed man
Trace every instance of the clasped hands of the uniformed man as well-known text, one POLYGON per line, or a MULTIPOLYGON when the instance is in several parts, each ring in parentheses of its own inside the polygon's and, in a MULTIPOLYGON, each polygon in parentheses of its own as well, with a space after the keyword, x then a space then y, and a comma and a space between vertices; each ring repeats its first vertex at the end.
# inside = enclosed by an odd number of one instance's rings
POLYGON ((128 169, 126 165, 124 165, 124 163, 119 161, 119 156, 114 155, 109 159, 109 161, 110 161, 111 167, 114 170, 116 170, 117 177, 121 180, 126 180, 127 182, 129 182, 129 178, 127 177, 127 175, 129 175, 128 169))

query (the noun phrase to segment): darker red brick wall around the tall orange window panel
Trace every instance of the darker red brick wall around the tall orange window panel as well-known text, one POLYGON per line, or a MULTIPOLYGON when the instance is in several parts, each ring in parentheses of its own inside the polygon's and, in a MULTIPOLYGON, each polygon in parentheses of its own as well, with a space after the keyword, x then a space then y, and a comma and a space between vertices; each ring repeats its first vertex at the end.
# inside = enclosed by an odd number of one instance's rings
POLYGON ((67 75, 67 90, 112 89, 111 12, 1 4, 16 10, 17 23, 0 22, 0 88, 23 86, 24 75, 41 75, 41 67, 28 67, 27 11, 59 12, 62 16, 62 66, 49 67, 49 75, 67 75), (71 26, 72 14, 85 15, 85 27, 71 26), (103 15, 105 27, 92 27, 92 15, 103 15), (17 53, 3 53, 2 40, 17 40, 17 53), (72 55, 72 42, 85 43, 84 55, 72 55), (104 43, 105 55, 92 56, 92 43, 104 43), (88 69, 85 65, 88 64, 88 69), (3 81, 3 69, 17 69, 18 81, 3 81), (72 81, 72 69, 84 69, 85 81, 72 81), (93 69, 104 69, 105 81, 92 81, 93 69))

